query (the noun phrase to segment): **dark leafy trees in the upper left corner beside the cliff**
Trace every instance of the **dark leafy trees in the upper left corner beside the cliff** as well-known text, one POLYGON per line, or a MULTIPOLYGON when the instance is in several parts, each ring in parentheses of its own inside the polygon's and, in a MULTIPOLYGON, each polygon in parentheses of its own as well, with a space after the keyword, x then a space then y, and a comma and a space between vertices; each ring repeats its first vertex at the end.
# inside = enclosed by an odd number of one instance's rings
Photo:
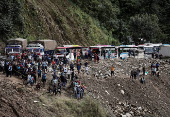
POLYGON ((6 41, 15 30, 21 30, 21 4, 18 0, 0 1, 0 39, 6 41), (18 28, 18 29, 17 29, 18 28))

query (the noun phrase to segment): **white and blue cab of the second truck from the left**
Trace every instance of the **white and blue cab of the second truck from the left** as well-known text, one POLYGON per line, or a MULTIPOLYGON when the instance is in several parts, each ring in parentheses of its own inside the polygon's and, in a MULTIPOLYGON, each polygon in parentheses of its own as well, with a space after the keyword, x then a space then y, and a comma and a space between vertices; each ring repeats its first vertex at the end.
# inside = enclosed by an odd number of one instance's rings
POLYGON ((33 52, 33 53, 35 52, 37 54, 44 55, 44 46, 39 43, 29 44, 26 47, 26 51, 33 52))

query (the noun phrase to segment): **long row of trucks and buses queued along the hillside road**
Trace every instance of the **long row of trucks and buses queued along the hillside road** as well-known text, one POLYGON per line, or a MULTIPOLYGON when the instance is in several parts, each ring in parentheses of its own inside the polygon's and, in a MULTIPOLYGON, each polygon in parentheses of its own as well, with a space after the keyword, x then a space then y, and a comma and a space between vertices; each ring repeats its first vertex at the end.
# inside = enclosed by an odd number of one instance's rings
POLYGON ((30 41, 27 44, 27 39, 17 38, 7 41, 5 47, 5 53, 22 54, 23 51, 34 52, 42 56, 45 54, 57 55, 58 57, 71 58, 74 60, 74 54, 80 50, 81 54, 85 56, 87 51, 91 51, 92 57, 96 53, 100 59, 105 58, 121 58, 125 59, 129 56, 135 56, 136 58, 151 58, 153 54, 162 54, 163 56, 170 57, 170 45, 169 44, 152 44, 145 43, 136 45, 96 45, 90 47, 83 47, 79 45, 63 45, 57 47, 55 40, 36 40, 30 41))

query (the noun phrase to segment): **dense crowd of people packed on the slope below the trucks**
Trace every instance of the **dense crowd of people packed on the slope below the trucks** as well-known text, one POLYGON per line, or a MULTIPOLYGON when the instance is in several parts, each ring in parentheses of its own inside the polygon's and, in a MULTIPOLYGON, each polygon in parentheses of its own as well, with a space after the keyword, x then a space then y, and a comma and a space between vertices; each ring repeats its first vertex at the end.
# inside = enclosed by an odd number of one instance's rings
POLYGON ((31 52, 23 52, 22 55, 11 54, 8 59, 1 60, 0 70, 6 77, 22 78, 23 84, 30 85, 32 89, 46 88, 46 82, 50 81, 47 90, 55 95, 61 94, 61 90, 69 84, 75 98, 79 100, 83 98, 85 86, 81 84, 78 76, 80 73, 89 75, 88 59, 91 59, 91 54, 88 52, 85 56, 85 69, 82 69, 80 52, 76 51, 74 54, 76 56, 73 61, 65 55, 59 58, 57 55, 48 54, 40 57, 31 52))

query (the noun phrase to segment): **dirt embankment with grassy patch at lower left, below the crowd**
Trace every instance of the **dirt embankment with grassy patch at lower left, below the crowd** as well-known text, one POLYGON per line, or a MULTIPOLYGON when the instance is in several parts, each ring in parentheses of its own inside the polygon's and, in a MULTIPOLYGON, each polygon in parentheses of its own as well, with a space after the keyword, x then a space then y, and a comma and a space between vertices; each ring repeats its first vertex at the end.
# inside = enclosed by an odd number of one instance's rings
MULTIPOLYGON (((105 117, 106 113, 91 97, 78 101, 74 98, 68 81, 66 89, 56 96, 47 92, 51 73, 47 74, 45 88, 25 86, 16 77, 5 77, 0 73, 0 116, 1 117, 105 117)), ((37 79, 41 82, 41 79, 37 79)))

